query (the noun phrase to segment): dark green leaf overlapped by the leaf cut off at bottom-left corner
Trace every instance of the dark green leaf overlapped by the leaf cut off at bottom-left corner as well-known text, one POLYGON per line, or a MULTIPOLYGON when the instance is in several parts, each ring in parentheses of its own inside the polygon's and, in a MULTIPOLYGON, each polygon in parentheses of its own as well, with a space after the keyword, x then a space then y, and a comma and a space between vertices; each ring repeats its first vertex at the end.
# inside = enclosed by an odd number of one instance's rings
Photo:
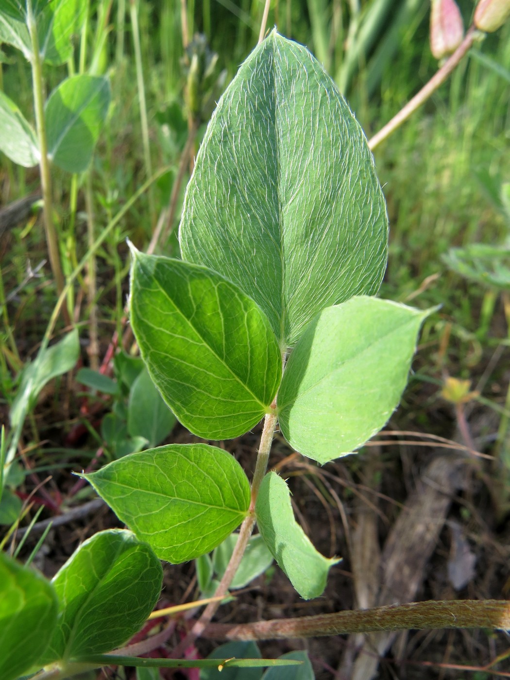
POLYGON ((52 583, 60 613, 44 664, 110 651, 137 632, 158 601, 163 569, 131 531, 85 541, 52 583))

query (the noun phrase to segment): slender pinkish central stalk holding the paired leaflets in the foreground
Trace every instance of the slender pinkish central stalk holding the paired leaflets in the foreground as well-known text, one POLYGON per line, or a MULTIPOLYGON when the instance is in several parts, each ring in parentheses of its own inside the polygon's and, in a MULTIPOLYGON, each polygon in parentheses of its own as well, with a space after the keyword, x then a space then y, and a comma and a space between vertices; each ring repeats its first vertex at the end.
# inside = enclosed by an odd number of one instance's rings
MULTIPOLYGON (((262 430, 262 435, 260 437, 260 447, 257 454, 257 462, 255 465, 255 472, 253 475, 252 482, 252 498, 250 501, 249 514, 245 517, 241 528, 239 529, 239 536, 237 538, 237 543, 235 544, 234 551, 232 553, 231 559, 226 566, 225 573, 220 581, 220 585, 216 588, 214 593, 215 598, 223 597, 228 592, 237 568, 241 562, 250 536, 252 535, 253 528, 255 526, 255 502, 258 494, 258 489, 260 487, 260 482, 262 481, 266 470, 267 461, 269 460, 269 452, 271 451, 271 444, 273 443, 273 437, 275 434, 277 415, 276 413, 267 413, 264 420, 264 428, 262 430)), ((209 602, 209 605, 205 607, 201 617, 194 624, 190 632, 186 635, 184 640, 182 640, 175 649, 172 651, 172 656, 180 656, 184 649, 191 645, 197 637, 203 634, 206 626, 211 621, 212 617, 216 614, 218 607, 221 604, 221 600, 216 602, 209 602)))

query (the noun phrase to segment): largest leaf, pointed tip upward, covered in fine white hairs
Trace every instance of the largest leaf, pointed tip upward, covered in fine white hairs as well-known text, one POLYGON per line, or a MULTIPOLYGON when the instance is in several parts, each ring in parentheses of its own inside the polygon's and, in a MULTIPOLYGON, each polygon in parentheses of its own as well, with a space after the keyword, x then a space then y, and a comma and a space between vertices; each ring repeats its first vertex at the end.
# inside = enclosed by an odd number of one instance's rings
POLYGON ((320 63, 273 31, 207 127, 186 192, 183 258, 238 284, 285 348, 326 305, 377 292, 387 239, 358 122, 320 63))

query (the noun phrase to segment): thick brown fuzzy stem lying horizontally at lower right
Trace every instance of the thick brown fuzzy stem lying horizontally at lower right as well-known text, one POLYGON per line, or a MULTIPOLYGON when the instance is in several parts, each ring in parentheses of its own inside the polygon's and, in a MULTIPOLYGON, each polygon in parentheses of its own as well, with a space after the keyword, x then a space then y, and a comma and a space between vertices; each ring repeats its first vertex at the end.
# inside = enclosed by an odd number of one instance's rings
POLYGON ((379 630, 490 628, 510 630, 508 600, 429 600, 406 605, 271 619, 254 624, 209 624, 203 636, 222 640, 275 640, 379 630))

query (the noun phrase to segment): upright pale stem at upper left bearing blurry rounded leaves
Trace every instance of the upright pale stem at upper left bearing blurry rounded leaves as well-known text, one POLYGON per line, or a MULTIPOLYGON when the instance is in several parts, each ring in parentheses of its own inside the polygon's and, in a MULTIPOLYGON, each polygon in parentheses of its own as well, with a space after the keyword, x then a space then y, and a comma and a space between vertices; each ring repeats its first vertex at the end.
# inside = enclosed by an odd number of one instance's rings
MULTIPOLYGON (((48 160, 48 141, 46 139, 46 120, 44 117, 44 84, 42 77, 41 55, 39 54, 39 38, 37 37, 37 24, 32 11, 31 0, 27 1, 27 25, 29 27, 32 57, 32 83, 35 110, 35 124, 37 127, 37 139, 39 141, 39 169, 41 171, 41 189, 43 195, 43 214, 44 230, 46 232, 46 243, 48 244, 48 254, 50 265, 56 282, 56 290, 60 295, 64 290, 64 275, 61 268, 60 254, 58 252, 58 241, 56 237, 55 225, 53 222, 52 207, 52 184, 50 174, 50 162, 48 160)), ((63 306, 63 314, 67 324, 71 323, 69 311, 63 306)))

